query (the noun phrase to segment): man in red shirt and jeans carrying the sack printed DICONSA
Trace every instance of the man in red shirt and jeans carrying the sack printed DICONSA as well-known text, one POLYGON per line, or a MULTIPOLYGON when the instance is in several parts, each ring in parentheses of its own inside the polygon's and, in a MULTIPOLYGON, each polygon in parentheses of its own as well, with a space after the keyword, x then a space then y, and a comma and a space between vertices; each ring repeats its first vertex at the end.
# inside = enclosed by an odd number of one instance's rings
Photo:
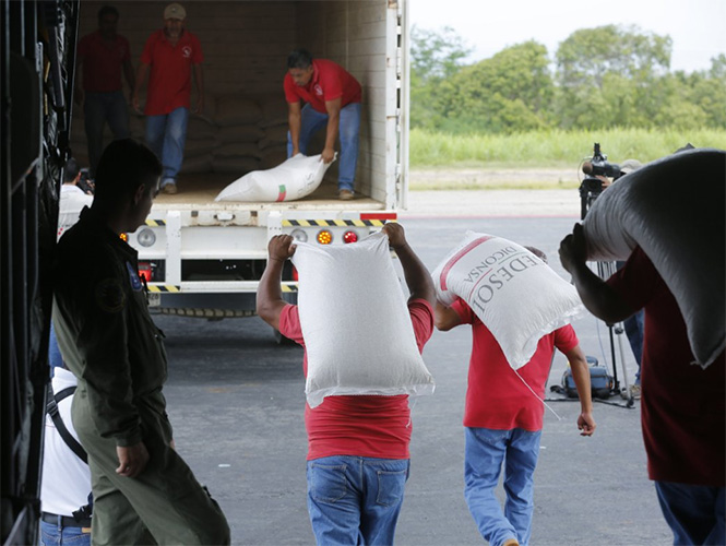
MULTIPOLYGON (((546 261, 544 252, 535 253, 546 261)), ((578 428, 582 436, 595 431, 587 360, 574 330, 567 325, 540 339, 532 359, 515 371, 489 329, 462 299, 451 307, 437 304, 437 329, 448 331, 460 324, 472 324, 473 335, 464 411, 466 503, 489 544, 525 546, 532 536, 534 471, 555 348, 568 357, 572 368, 580 394, 578 428), (503 512, 495 495, 502 464, 507 492, 503 512)))

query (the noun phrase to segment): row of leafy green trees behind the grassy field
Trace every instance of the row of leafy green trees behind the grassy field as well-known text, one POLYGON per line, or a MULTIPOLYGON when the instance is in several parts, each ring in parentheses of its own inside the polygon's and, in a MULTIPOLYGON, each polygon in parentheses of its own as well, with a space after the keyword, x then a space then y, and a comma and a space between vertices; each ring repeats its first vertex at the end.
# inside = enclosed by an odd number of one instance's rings
POLYGON ((412 29, 412 128, 451 133, 548 129, 726 129, 726 56, 670 71, 673 40, 636 26, 583 28, 550 66, 535 40, 472 64, 452 28, 412 29))

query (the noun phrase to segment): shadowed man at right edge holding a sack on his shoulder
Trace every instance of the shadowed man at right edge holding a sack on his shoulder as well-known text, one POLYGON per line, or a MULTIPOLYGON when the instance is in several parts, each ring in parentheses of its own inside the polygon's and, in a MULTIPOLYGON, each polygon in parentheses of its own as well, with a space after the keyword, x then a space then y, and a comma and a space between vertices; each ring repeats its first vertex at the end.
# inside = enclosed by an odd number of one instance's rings
POLYGON ((586 248, 580 224, 560 244, 562 265, 587 309, 608 323, 645 310, 641 425, 648 477, 674 544, 726 544, 724 353, 705 369, 693 364, 676 298, 640 247, 607 282, 587 268, 586 248))

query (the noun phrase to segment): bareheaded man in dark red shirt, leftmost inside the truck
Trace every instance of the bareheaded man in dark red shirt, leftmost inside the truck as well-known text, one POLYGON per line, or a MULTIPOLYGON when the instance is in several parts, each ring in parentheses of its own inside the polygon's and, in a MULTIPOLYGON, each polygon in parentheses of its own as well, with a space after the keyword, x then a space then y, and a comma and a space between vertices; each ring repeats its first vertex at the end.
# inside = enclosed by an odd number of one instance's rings
POLYGON ((83 105, 91 179, 96 177, 104 150, 104 124, 108 123, 114 139, 129 136, 129 108, 121 72, 129 91, 134 88, 134 75, 129 40, 116 34, 118 22, 118 10, 104 5, 98 10, 98 29, 81 38, 76 49, 74 100, 83 105))

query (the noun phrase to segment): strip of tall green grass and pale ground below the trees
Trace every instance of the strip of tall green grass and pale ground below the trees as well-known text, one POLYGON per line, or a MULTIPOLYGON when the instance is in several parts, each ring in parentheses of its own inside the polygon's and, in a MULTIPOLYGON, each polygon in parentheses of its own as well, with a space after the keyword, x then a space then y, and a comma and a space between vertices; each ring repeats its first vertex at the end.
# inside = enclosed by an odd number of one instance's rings
POLYGON ((519 134, 410 131, 410 189, 572 189, 593 143, 611 163, 647 163, 686 143, 726 149, 726 130, 608 129, 519 134))

